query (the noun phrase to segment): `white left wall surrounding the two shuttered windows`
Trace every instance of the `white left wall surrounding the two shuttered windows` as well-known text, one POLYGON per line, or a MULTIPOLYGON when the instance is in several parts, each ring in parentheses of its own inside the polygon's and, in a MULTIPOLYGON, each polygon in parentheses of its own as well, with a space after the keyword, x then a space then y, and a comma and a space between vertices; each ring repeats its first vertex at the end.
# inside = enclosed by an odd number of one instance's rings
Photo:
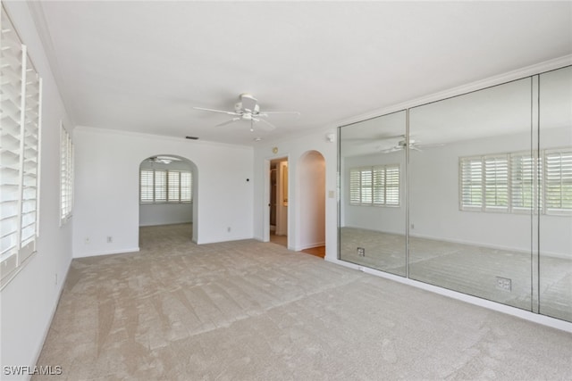
POLYGON ((44 344, 71 262, 74 218, 63 227, 59 226, 60 120, 70 129, 72 125, 66 116, 28 4, 10 2, 4 5, 43 79, 38 252, 0 292, 0 371, 3 380, 10 380, 28 377, 4 375, 4 366, 34 366, 44 344))

